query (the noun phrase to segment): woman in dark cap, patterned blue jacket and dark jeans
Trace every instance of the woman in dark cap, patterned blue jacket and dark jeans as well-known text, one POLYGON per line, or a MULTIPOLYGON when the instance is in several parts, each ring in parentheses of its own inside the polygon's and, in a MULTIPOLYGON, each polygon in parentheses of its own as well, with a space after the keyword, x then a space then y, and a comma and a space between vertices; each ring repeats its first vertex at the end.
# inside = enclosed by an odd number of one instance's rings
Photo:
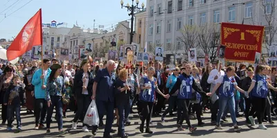
POLYGON ((57 128, 60 134, 66 133, 62 130, 62 96, 66 95, 64 79, 60 76, 62 66, 60 64, 53 64, 51 67, 51 74, 47 79, 47 87, 45 92, 45 99, 47 101, 47 117, 46 117, 46 134, 50 134, 50 124, 55 107, 57 114, 57 128))

